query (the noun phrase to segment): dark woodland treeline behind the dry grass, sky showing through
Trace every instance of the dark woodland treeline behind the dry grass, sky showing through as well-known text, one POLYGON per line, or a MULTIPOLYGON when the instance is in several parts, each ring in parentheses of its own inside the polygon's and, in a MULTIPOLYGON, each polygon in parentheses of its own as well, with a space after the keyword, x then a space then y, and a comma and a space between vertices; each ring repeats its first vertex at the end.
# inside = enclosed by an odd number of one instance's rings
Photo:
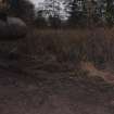
POLYGON ((114 0, 45 0, 37 9, 29 0, 18 0, 12 12, 24 20, 33 20, 39 28, 114 25, 114 0))

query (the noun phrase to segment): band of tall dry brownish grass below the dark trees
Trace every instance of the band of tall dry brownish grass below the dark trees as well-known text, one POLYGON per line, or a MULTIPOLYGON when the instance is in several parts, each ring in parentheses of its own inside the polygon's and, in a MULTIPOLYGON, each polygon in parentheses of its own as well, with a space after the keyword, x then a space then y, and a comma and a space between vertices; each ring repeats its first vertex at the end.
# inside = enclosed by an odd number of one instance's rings
POLYGON ((114 29, 34 29, 21 43, 23 53, 53 54, 58 61, 114 63, 114 29))

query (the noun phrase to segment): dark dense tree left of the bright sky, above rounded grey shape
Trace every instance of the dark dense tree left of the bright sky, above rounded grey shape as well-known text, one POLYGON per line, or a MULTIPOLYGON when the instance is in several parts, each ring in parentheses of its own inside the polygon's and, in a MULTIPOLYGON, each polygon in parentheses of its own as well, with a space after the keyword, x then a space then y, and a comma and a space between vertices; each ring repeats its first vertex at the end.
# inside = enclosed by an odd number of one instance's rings
POLYGON ((34 16, 34 4, 29 0, 10 0, 9 14, 24 20, 34 16))

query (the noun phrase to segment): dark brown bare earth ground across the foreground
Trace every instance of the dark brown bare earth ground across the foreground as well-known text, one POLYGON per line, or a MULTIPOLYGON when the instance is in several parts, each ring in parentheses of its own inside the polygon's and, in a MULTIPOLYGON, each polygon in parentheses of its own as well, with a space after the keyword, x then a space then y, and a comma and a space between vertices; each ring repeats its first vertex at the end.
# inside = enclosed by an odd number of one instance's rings
POLYGON ((114 114, 114 88, 65 72, 31 76, 1 67, 0 114, 114 114))

